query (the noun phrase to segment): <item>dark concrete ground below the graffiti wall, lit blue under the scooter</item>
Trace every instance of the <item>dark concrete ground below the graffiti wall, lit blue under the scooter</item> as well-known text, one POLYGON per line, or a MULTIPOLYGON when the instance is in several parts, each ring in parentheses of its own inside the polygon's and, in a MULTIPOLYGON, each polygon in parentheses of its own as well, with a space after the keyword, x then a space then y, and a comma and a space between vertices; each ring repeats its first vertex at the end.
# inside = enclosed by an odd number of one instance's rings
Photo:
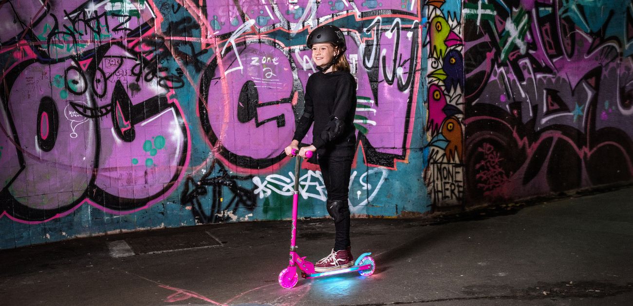
MULTIPOLYGON (((1 305, 632 305, 633 187, 436 219, 354 219, 377 269, 283 289, 289 221, 82 238, 0 250, 1 305), (121 257, 113 257, 121 256, 121 257)), ((300 220, 299 254, 330 220, 300 220)))

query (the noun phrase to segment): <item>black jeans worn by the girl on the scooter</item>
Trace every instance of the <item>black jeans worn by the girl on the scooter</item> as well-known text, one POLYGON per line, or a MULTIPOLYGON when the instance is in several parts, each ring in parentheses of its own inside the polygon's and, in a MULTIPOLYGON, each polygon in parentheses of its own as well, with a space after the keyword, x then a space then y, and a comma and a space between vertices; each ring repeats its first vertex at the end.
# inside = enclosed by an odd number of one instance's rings
MULTIPOLYGON (((349 211, 349 175, 352 170, 353 155, 318 155, 318 164, 321 167, 325 190, 327 191, 327 202, 341 201, 340 204, 346 206, 349 211)), ((327 204, 326 204, 327 205, 327 204)), ((344 250, 351 245, 349 241, 349 213, 343 220, 334 223, 336 235, 334 240, 334 250, 344 250)))

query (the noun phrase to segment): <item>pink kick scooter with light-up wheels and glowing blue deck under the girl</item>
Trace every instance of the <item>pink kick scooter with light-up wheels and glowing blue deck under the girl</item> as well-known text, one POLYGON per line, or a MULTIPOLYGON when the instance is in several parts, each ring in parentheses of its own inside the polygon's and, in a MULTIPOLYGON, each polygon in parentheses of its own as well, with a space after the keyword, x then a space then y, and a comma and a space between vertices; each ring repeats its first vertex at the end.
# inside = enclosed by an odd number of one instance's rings
MULTIPOLYGON (((296 156, 298 150, 293 150, 292 155, 296 156)), ((307 151, 306 156, 312 157, 312 152, 307 151)), ((290 242, 290 262, 288 268, 285 268, 279 273, 279 285, 284 288, 292 288, 297 285, 299 280, 298 269, 301 270, 301 277, 303 278, 318 278, 320 276, 328 276, 334 274, 347 273, 352 271, 358 271, 362 276, 370 276, 376 269, 376 264, 372 257, 369 257, 372 253, 363 253, 356 259, 354 266, 345 269, 338 269, 334 271, 327 271, 322 273, 315 272, 315 265, 306 261, 306 257, 301 257, 297 254, 298 249, 296 245, 297 238, 297 210, 299 204, 299 165, 301 164, 301 158, 296 156, 296 163, 294 165, 294 194, 292 195, 292 235, 290 242)))

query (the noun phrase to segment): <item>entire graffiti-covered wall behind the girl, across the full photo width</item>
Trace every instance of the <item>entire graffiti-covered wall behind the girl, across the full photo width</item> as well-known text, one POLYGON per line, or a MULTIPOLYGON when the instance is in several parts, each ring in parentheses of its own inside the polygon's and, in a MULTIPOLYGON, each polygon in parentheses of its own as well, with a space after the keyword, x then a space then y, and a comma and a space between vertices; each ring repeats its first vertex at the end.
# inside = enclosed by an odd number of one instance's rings
MULTIPOLYGON (((324 24, 358 83, 354 216, 633 176, 630 1, 8 0, 0 16, 0 249, 290 218, 282 150, 324 24)), ((328 215, 316 160, 299 188, 300 216, 328 215)))

